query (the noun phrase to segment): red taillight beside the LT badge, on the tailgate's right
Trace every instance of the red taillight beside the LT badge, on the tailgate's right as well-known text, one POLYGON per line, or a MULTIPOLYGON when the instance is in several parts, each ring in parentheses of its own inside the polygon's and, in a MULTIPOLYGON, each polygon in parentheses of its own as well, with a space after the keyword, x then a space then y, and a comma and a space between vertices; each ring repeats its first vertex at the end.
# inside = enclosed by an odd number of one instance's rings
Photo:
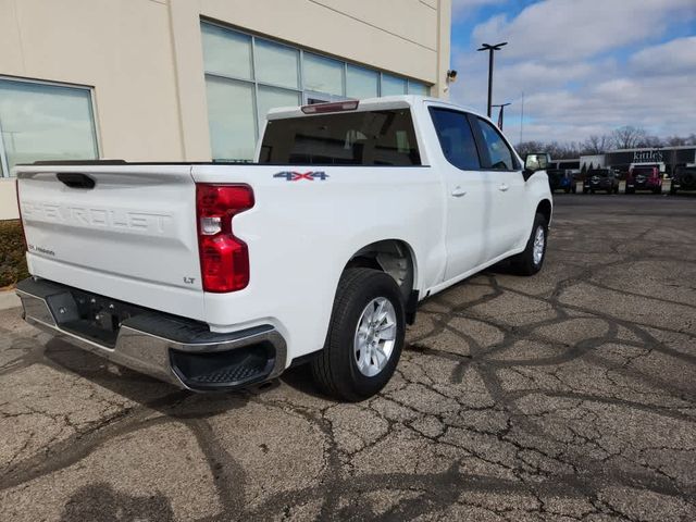
POLYGON ((248 185, 196 184, 203 290, 235 291, 249 284, 249 249, 234 236, 232 221, 251 207, 253 190, 248 185))

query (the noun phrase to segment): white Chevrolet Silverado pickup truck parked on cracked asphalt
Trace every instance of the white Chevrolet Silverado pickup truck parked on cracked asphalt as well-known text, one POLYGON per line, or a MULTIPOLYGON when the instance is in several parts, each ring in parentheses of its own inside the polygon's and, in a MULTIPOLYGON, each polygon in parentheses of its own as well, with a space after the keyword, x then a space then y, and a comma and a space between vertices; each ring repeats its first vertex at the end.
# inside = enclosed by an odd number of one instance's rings
POLYGON ((546 157, 486 117, 398 96, 273 110, 257 162, 16 170, 26 321, 192 390, 310 362, 341 400, 393 375, 418 302, 544 262, 546 157))

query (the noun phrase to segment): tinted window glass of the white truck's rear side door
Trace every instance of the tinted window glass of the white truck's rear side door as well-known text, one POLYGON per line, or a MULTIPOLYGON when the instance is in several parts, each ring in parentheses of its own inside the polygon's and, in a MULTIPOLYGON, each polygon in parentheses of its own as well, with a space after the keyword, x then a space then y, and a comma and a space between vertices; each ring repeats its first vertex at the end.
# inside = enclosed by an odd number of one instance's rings
POLYGON ((478 150, 467 114, 436 107, 432 107, 430 111, 447 161, 463 171, 480 170, 478 150))

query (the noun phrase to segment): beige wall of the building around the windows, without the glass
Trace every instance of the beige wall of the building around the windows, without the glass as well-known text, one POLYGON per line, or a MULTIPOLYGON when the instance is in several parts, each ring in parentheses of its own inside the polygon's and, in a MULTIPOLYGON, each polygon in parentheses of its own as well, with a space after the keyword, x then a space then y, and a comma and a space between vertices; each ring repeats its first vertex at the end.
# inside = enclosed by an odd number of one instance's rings
MULTIPOLYGON (((431 84, 444 95, 451 0, 0 0, 0 76, 94 88, 100 156, 207 161, 200 20, 431 84)), ((16 217, 0 179, 0 219, 16 217)))

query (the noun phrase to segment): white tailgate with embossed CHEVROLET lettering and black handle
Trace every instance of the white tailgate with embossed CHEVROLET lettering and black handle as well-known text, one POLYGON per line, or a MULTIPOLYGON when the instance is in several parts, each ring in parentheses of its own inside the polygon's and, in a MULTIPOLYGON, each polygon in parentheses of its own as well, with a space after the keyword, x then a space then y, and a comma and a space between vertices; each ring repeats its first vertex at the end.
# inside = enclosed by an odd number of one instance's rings
POLYGON ((190 169, 135 164, 17 169, 29 272, 202 319, 190 169))

